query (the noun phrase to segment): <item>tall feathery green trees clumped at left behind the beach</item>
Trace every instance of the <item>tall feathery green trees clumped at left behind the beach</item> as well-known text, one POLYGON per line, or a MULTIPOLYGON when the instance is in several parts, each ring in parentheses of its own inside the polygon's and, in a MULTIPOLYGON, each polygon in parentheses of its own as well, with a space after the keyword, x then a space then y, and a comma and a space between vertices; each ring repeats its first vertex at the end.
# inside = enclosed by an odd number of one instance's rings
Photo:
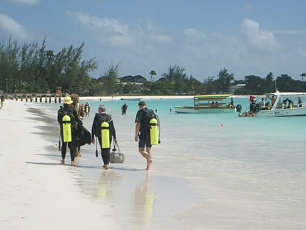
POLYGON ((0 42, 0 82, 9 93, 40 93, 41 90, 73 93, 93 87, 89 72, 97 68, 94 58, 82 60, 84 42, 80 47, 63 47, 57 54, 46 49, 46 41, 24 43, 10 37, 8 43, 0 42))

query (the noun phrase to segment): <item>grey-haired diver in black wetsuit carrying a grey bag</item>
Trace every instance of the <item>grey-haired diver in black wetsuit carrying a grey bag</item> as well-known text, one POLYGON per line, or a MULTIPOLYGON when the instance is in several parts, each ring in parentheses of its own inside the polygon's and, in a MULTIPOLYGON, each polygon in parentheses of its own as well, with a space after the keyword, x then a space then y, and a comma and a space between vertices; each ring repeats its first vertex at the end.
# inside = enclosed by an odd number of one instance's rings
POLYGON ((117 138, 116 138, 116 130, 114 127, 113 119, 110 115, 106 114, 105 111, 106 111, 105 105, 99 105, 98 113, 95 114, 95 117, 92 123, 92 127, 91 127, 91 143, 94 143, 94 136, 96 136, 99 141, 100 148, 101 148, 101 156, 102 156, 103 163, 104 163, 103 168, 109 169, 112 137, 114 137, 115 143, 117 143, 117 138), (109 136, 108 137, 102 136, 101 134, 101 124, 103 122, 107 122, 109 124, 109 136), (109 138, 110 145, 108 148, 103 148, 102 146, 102 140, 104 138, 109 138))

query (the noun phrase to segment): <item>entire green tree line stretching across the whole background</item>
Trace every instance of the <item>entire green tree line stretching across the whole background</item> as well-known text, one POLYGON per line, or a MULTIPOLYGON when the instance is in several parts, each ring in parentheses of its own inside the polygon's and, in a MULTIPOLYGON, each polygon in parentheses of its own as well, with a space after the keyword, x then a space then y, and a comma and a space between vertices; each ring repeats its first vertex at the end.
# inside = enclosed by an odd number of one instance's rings
MULTIPOLYGON (((98 79, 91 78, 98 63, 94 58, 82 60, 84 42, 80 47, 63 47, 57 54, 46 49, 46 39, 42 44, 24 43, 9 39, 0 42, 0 89, 6 92, 8 79, 9 93, 40 93, 41 91, 55 91, 58 86, 65 93, 88 94, 94 89, 95 95, 197 95, 224 94, 261 95, 275 91, 275 80, 279 91, 305 91, 306 83, 293 80, 291 76, 282 74, 274 77, 270 72, 266 77, 248 75, 243 80, 235 80, 235 74, 226 68, 220 70, 217 76, 209 76, 203 82, 196 80, 186 73, 185 67, 170 65, 157 81, 157 73, 148 72, 150 80, 143 80, 142 85, 127 82, 122 85, 119 81, 120 63, 111 62, 98 79), (234 92, 231 86, 245 84, 234 92)), ((140 78, 142 78, 140 76, 140 78)), ((137 78, 139 79, 139 78, 137 78)), ((136 81, 136 79, 135 79, 136 81)))

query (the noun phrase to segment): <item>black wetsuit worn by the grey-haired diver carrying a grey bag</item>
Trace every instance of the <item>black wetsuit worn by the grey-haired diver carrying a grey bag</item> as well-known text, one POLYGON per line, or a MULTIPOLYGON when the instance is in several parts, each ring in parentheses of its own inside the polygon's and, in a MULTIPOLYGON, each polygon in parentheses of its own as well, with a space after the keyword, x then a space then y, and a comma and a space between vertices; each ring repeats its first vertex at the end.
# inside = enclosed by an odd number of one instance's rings
MULTIPOLYGON (((110 164, 110 156, 111 156, 110 150, 111 150, 111 148, 102 148, 101 147, 102 146, 101 137, 98 133, 96 133, 96 131, 98 129, 98 117, 97 116, 106 117, 107 114, 106 113, 100 113, 100 114, 96 113, 96 115, 93 119, 92 127, 91 127, 91 139, 94 139, 95 135, 98 137, 99 145, 100 145, 100 148, 101 148, 101 157, 103 159, 103 163, 104 163, 104 165, 108 165, 108 164, 110 164)), ((110 125, 110 146, 111 146, 112 137, 114 137, 114 139, 117 139, 117 138, 116 138, 116 130, 115 130, 113 120, 111 120, 109 122, 109 125, 110 125)))

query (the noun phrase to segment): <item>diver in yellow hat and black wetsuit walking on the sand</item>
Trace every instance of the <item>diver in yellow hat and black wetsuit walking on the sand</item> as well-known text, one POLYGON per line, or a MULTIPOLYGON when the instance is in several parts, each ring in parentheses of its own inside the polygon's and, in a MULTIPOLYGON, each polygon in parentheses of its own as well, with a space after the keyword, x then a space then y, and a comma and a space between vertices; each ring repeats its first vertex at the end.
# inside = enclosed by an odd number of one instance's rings
POLYGON ((75 140, 77 139, 77 129, 78 125, 77 122, 83 124, 82 121, 78 117, 77 110, 71 108, 71 104, 73 101, 70 97, 64 98, 64 104, 58 110, 58 122, 61 127, 61 137, 62 137, 62 159, 61 163, 65 164, 65 157, 66 157, 66 149, 67 149, 67 142, 64 142, 64 133, 63 133, 63 117, 68 115, 70 118, 70 126, 71 126, 71 142, 68 142, 68 148, 70 149, 70 157, 71 157, 71 166, 74 166, 74 156, 75 152, 77 151, 77 147, 75 146, 75 140))

